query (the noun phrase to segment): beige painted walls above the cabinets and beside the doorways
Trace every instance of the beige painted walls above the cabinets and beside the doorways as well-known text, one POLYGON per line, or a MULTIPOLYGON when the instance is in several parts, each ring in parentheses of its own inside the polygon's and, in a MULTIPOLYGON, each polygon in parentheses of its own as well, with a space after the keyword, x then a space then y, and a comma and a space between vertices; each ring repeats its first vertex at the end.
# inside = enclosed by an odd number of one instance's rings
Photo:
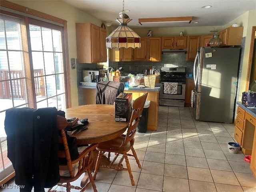
MULTIPOLYGON (((101 25, 102 21, 62 2, 60 0, 9 0, 10 2, 14 2, 16 4, 20 4, 22 6, 27 6, 28 8, 32 8, 38 10, 40 12, 44 12, 46 14, 56 16, 58 18, 67 20, 68 25, 68 50, 69 50, 69 58, 76 58, 76 30, 75 23, 76 22, 91 22, 98 26, 101 25)), ((240 26, 244 26, 243 36, 246 36, 246 44, 244 49, 244 60, 243 60, 243 70, 242 70, 242 79, 241 79, 241 87, 240 92, 245 90, 246 86, 246 77, 248 71, 248 58, 249 58, 249 50, 250 50, 250 37, 252 32, 252 26, 256 26, 256 11, 248 11, 238 18, 230 21, 224 26, 206 26, 206 27, 182 27, 182 28, 135 28, 134 31, 138 33, 140 36, 146 36, 148 30, 152 30, 153 36, 178 36, 180 31, 184 32, 184 35, 203 35, 210 34, 210 30, 213 30, 215 27, 216 30, 220 31, 228 26, 239 23, 240 26)), ((114 27, 107 27, 108 34, 114 30, 114 27)), ((78 91, 77 91, 77 82, 76 82, 76 70, 71 70, 70 67, 70 86, 72 92, 72 106, 78 105, 78 91)), ((241 100, 241 98, 238 98, 241 100)))

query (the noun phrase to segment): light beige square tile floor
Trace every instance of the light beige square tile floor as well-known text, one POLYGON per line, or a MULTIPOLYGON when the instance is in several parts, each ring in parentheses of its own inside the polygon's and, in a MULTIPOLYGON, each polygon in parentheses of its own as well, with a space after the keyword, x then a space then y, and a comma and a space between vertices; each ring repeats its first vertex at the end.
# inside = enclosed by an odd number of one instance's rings
MULTIPOLYGON (((192 118, 192 108, 160 106, 158 130, 136 133, 134 148, 142 169, 129 158, 135 186, 127 171, 100 168, 95 180, 97 190, 256 192, 256 179, 244 154, 228 152, 227 143, 234 142, 233 136, 234 124, 200 122, 192 118)), ((79 185, 80 180, 76 182, 79 185)))

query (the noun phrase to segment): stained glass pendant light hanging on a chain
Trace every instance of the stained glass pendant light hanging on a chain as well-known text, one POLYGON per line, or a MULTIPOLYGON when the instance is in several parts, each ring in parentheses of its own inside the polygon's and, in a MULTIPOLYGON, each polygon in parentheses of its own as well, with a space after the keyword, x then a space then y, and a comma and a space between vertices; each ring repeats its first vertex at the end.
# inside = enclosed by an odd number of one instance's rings
POLYGON ((107 48, 140 48, 140 36, 136 34, 127 23, 132 19, 129 18, 127 14, 124 13, 124 0, 123 0, 123 10, 119 13, 120 18, 115 20, 120 23, 118 28, 116 28, 112 33, 106 38, 107 48))

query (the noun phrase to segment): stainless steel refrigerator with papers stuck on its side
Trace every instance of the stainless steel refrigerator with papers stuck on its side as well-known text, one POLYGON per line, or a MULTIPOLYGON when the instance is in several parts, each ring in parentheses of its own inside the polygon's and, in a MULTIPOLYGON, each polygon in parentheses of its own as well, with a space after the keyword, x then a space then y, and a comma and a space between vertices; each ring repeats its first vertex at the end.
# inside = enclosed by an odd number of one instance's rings
POLYGON ((194 61, 192 92, 196 120, 232 123, 240 48, 200 47, 194 61))

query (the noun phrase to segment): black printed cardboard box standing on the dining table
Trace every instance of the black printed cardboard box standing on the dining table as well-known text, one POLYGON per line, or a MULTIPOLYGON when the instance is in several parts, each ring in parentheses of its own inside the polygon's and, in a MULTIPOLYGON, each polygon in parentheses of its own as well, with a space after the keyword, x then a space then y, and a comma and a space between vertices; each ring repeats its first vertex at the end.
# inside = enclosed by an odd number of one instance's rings
POLYGON ((120 93, 115 99, 115 121, 128 122, 132 115, 132 93, 120 93))

